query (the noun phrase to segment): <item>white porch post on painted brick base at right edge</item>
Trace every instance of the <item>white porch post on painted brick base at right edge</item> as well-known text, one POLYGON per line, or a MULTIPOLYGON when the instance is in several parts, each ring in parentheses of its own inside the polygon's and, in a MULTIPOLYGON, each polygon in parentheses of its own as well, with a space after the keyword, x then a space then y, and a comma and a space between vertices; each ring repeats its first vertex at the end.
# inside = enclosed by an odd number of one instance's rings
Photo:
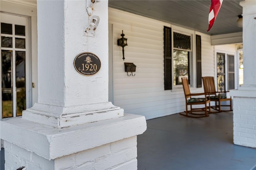
POLYGON ((256 1, 243 7, 244 84, 232 90, 234 97, 234 144, 256 147, 256 1))

